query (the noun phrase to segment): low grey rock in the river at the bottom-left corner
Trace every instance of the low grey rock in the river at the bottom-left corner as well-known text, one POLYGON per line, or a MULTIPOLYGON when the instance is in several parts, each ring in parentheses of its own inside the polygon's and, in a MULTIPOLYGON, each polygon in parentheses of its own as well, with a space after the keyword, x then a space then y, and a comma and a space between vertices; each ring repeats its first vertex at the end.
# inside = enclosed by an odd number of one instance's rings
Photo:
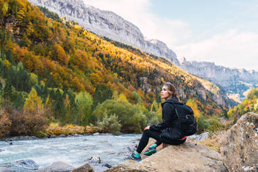
POLYGON ((13 171, 30 171, 39 169, 39 165, 33 160, 19 160, 6 163, 6 167, 13 171))

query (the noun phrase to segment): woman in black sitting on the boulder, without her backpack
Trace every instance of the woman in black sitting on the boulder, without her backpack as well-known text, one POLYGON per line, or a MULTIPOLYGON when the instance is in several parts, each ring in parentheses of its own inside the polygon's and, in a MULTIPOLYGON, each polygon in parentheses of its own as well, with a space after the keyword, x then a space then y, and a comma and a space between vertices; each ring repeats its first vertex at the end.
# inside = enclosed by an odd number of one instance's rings
POLYGON ((160 146, 162 143, 178 145, 183 144, 187 140, 186 136, 182 137, 182 133, 178 127, 178 116, 175 113, 175 105, 173 105, 173 103, 179 103, 175 87, 171 83, 165 83, 160 96, 165 100, 162 103, 162 123, 144 128, 137 150, 127 157, 126 160, 141 161, 141 151, 147 146, 150 137, 155 139, 156 142, 144 152, 144 155, 148 156, 156 153, 157 146, 160 146))

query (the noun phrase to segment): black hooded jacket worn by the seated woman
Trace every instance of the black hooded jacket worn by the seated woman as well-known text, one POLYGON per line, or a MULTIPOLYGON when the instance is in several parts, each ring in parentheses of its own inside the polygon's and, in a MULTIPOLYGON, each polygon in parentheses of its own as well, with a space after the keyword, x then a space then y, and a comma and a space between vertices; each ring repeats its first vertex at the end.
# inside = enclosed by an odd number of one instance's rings
POLYGON ((183 105, 177 99, 169 98, 162 103, 162 123, 150 126, 150 130, 162 131, 161 137, 166 139, 182 139, 184 137, 178 125, 174 104, 183 105))

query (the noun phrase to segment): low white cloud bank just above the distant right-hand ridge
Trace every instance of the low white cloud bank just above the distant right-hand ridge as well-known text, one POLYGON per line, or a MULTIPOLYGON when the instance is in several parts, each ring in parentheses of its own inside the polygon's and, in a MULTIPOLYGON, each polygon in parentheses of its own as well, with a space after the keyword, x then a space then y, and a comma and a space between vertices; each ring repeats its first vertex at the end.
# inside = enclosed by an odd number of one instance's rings
POLYGON ((187 60, 215 62, 216 65, 258 71, 258 34, 230 30, 212 38, 175 47, 187 60))

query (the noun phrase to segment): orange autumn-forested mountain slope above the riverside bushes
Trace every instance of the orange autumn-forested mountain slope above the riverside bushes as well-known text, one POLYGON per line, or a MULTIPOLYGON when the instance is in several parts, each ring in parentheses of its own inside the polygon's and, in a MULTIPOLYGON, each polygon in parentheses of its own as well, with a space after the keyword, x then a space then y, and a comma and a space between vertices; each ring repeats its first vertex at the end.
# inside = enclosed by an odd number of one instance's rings
POLYGON ((85 125, 96 118, 78 114, 83 107, 78 99, 87 98, 87 105, 95 108, 106 99, 120 98, 134 108, 143 105, 141 110, 148 112, 152 104, 161 102, 164 82, 173 83, 181 101, 191 99, 202 114, 221 114, 230 107, 230 100, 214 83, 165 58, 107 41, 28 1, 0 1, 0 8, 1 93, 14 107, 22 108, 34 88, 53 117, 85 125))

